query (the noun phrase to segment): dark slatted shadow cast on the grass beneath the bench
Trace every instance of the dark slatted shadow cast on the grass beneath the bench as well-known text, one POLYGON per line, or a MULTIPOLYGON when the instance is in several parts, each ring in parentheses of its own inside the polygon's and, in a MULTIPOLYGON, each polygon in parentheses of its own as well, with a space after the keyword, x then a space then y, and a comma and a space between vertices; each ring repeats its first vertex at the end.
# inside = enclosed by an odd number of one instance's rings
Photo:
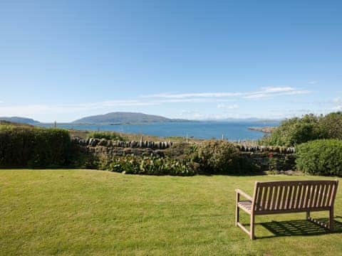
MULTIPOLYGON (((328 218, 317 218, 324 223, 328 223, 328 218)), ((276 238, 282 236, 296 235, 326 235, 333 233, 342 233, 342 223, 334 220, 333 231, 322 228, 321 226, 311 223, 308 220, 288 220, 288 221, 271 221, 270 223, 259 223, 274 235, 257 237, 257 239, 276 238)))

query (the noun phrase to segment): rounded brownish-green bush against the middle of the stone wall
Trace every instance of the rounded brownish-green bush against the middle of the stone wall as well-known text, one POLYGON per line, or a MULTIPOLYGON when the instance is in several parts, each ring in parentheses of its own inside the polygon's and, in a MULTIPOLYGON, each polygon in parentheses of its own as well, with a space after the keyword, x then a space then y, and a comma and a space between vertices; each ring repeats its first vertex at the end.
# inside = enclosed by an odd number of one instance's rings
POLYGON ((239 150, 227 141, 202 142, 197 148, 194 161, 199 164, 202 174, 237 174, 244 169, 239 150))

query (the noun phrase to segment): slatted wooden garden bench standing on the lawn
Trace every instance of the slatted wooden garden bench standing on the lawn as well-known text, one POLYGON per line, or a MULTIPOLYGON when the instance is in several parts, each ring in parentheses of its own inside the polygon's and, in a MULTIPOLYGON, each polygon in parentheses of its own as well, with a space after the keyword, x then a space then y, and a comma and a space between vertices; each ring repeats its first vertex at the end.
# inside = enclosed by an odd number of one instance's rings
POLYGON ((237 205, 235 225, 254 239, 255 215, 306 212, 306 219, 333 230, 333 203, 338 181, 270 181, 256 182, 253 197, 236 189, 237 205), (240 201, 240 196, 247 200, 240 201), (251 215, 250 229, 239 222, 239 209, 251 215), (329 223, 310 217, 311 211, 328 210, 329 223))

